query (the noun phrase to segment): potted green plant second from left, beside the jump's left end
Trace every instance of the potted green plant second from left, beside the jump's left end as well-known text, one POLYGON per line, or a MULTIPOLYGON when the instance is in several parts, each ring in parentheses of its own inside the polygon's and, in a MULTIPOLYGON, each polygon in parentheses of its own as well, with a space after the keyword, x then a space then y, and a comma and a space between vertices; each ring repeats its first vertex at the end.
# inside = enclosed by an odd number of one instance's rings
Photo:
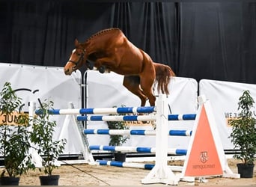
MULTIPOLYGON (((50 109, 53 108, 53 102, 45 100, 38 108, 39 114, 34 117, 32 126, 31 142, 37 147, 38 153, 43 158, 43 172, 46 176, 40 176, 42 186, 58 186, 59 175, 53 175, 52 171, 58 168, 56 161, 64 151, 66 139, 54 140, 56 121, 50 120, 50 109)), ((42 171, 41 168, 39 168, 42 171)))

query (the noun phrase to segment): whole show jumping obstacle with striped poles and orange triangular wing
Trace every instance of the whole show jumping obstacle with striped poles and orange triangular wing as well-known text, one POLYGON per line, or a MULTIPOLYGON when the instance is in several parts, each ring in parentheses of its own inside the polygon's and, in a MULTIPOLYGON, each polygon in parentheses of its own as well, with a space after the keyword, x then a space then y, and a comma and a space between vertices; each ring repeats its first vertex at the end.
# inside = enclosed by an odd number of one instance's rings
MULTIPOLYGON (((138 108, 82 108, 82 109, 59 109, 49 111, 51 114, 66 114, 68 120, 64 122, 64 126, 70 123, 70 120, 79 123, 80 120, 156 120, 156 131, 147 131, 144 129, 130 130, 109 130, 109 129, 83 129, 77 128, 79 144, 85 145, 82 153, 84 159, 90 163, 95 163, 91 150, 106 151, 127 151, 138 153, 156 153, 155 165, 141 165, 127 162, 106 162, 96 161, 97 165, 115 165, 120 167, 135 168, 152 168, 141 183, 165 183, 177 185, 180 180, 186 177, 200 177, 209 175, 222 175, 223 177, 239 177, 233 174, 228 167, 225 159, 224 150, 220 141, 216 126, 214 126, 213 113, 210 110, 210 103, 204 96, 198 96, 199 108, 197 114, 171 114, 168 115, 168 104, 165 95, 160 95, 157 99, 156 107, 138 107, 138 108), (143 112, 142 112, 143 111, 143 112), (150 113, 148 115, 140 115, 132 117, 128 116, 76 116, 79 114, 136 114, 150 113), (114 117, 114 118, 113 118, 114 117), (124 118, 128 117, 128 118, 124 118), (192 131, 188 130, 171 130, 168 131, 168 120, 195 120, 192 131), (156 147, 112 147, 82 144, 81 135, 98 134, 98 135, 155 135, 156 147), (169 149, 168 135, 191 136, 189 148, 187 150, 169 149), (199 141, 199 144, 197 143, 199 141), (194 144, 195 143, 195 144, 194 144), (216 146, 218 145, 218 146, 216 146), (168 153, 177 155, 186 155, 183 168, 180 175, 174 174, 174 168, 167 165, 168 153), (193 157, 193 158, 191 158, 193 157), (196 161, 196 162, 195 162, 196 161), (136 167, 137 166, 137 167, 136 167), (204 169, 204 170, 203 170, 204 169), (203 173, 201 173, 204 171, 203 173)), ((40 111, 36 111, 40 113, 40 111)), ((86 138, 87 140, 87 138, 86 138)))

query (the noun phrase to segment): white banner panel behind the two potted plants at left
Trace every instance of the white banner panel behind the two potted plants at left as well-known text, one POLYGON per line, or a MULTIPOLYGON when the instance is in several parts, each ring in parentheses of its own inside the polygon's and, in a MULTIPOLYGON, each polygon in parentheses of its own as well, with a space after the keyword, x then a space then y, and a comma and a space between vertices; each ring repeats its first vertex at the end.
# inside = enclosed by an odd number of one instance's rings
MULTIPOLYGON (((54 108, 67 108, 68 102, 73 102, 76 108, 81 108, 82 75, 79 71, 72 73, 72 76, 65 76, 62 67, 0 63, 0 76, 0 88, 3 88, 5 82, 10 82, 17 96, 22 98, 22 111, 28 111, 29 101, 34 101, 39 106, 38 99, 41 102, 45 99, 51 100, 54 102, 54 108)), ((57 122, 55 138, 58 139, 64 116, 56 115, 52 119, 57 122)), ((67 138, 64 154, 80 153, 71 125, 62 138, 67 138)))

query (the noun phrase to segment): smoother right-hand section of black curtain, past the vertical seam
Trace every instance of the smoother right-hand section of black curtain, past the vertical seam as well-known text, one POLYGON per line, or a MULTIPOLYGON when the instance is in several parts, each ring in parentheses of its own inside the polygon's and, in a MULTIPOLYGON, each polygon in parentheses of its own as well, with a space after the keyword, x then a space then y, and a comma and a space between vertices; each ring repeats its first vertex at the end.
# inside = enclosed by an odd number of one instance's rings
POLYGON ((256 4, 181 4, 178 73, 256 84, 256 4))

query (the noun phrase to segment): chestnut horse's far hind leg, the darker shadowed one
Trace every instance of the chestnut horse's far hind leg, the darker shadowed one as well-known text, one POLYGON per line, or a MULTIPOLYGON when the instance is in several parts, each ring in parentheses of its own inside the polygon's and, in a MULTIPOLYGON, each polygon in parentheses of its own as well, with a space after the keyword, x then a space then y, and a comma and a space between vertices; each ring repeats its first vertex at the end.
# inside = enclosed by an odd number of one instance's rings
POLYGON ((139 88, 140 78, 139 76, 124 76, 123 85, 128 91, 132 92, 141 99, 141 106, 146 104, 147 96, 139 88))

